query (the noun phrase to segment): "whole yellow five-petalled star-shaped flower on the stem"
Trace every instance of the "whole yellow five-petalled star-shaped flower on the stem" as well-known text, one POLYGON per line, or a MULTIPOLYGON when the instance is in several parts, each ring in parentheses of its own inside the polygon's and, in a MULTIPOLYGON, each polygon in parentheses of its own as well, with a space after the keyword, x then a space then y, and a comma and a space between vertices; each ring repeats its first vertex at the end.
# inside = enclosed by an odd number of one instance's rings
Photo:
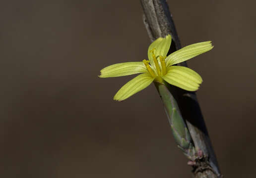
POLYGON ((188 45, 166 56, 171 41, 170 35, 155 40, 148 47, 149 60, 113 64, 100 71, 100 78, 142 73, 124 85, 116 93, 114 100, 125 100, 136 92, 145 89, 152 82, 163 83, 166 81, 188 91, 195 91, 199 88, 199 84, 202 83, 199 74, 190 68, 174 65, 211 50, 213 48, 211 41, 188 45))

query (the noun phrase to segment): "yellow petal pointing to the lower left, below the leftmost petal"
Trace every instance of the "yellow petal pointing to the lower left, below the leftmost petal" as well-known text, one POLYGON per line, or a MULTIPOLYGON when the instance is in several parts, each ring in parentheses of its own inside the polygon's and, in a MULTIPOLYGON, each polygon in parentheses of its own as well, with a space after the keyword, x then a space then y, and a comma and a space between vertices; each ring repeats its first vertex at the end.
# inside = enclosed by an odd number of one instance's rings
POLYGON ((135 94, 136 92, 145 89, 153 82, 154 78, 149 74, 140 74, 124 85, 114 96, 114 100, 122 101, 135 94))

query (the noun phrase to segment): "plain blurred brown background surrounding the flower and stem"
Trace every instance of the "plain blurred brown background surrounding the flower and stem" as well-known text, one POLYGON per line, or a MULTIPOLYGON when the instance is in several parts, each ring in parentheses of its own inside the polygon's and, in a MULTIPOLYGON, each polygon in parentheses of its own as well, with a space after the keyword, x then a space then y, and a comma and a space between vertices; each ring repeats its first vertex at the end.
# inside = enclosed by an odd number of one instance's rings
MULTIPOLYGON (((225 178, 255 178, 254 1, 168 0, 225 178)), ((103 67, 141 61, 150 44, 139 0, 0 1, 1 178, 190 178, 153 85, 124 102, 133 76, 103 67)))

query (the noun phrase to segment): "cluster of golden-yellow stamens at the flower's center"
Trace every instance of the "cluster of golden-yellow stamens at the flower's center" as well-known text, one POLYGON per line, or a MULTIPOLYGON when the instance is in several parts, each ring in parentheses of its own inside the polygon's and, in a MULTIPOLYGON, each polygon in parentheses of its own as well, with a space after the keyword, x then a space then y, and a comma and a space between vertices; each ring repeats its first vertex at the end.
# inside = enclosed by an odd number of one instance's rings
POLYGON ((155 48, 153 48, 152 50, 150 50, 149 52, 151 52, 152 58, 153 58, 153 62, 154 62, 154 66, 155 66, 155 70, 152 69, 152 64, 149 65, 149 61, 148 60, 143 60, 143 63, 145 65, 145 67, 147 68, 147 71, 150 73, 150 75, 154 78, 154 77, 158 77, 158 76, 164 76, 166 74, 166 63, 165 63, 165 58, 166 56, 155 56, 154 53, 155 48), (159 59, 157 59, 159 58, 159 59))

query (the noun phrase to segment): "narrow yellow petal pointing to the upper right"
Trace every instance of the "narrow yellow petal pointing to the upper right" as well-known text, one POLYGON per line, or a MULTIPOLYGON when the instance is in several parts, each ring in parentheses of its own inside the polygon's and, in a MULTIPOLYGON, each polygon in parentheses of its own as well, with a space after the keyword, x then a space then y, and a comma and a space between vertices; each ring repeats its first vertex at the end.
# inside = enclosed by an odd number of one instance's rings
POLYGON ((185 46, 166 57, 167 67, 186 61, 213 48, 211 41, 185 46))

